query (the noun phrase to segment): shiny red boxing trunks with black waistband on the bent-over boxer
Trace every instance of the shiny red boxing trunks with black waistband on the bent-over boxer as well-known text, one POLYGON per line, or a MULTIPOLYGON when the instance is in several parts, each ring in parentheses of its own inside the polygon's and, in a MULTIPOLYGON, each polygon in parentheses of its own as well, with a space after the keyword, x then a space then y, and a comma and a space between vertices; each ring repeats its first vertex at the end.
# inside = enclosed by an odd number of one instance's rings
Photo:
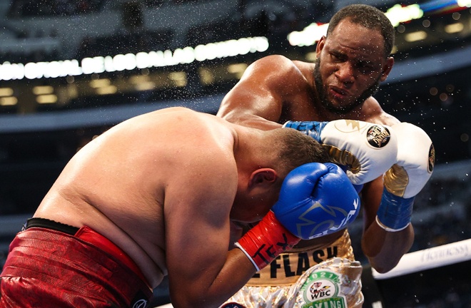
POLYGON ((11 242, 0 274, 1 308, 148 304, 152 289, 143 274, 106 237, 42 218, 26 226, 11 242))

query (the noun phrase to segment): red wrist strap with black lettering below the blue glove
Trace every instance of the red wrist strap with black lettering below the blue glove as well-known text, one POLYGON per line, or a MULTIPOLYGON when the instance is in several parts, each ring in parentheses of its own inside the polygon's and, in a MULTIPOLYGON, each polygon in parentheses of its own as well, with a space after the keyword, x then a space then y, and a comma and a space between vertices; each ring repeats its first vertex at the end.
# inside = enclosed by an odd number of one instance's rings
POLYGON ((268 212, 258 225, 250 229, 236 242, 236 247, 245 253, 257 272, 278 257, 281 252, 292 248, 300 241, 278 222, 275 214, 268 212))

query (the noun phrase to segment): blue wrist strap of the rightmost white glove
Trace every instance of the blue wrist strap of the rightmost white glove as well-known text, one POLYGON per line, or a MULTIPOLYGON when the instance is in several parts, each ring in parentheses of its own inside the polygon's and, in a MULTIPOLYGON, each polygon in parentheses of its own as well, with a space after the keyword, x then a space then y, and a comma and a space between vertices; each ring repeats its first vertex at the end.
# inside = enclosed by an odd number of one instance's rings
POLYGON ((410 224, 414 199, 415 197, 403 198, 393 195, 384 188, 376 222, 389 232, 404 230, 410 224))

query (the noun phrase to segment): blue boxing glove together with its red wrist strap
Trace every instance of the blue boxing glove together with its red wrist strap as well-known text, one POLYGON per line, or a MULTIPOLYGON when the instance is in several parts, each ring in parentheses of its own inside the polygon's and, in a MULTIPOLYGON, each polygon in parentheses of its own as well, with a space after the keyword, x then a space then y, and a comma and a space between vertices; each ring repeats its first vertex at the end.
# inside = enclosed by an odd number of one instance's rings
POLYGON ((338 165, 308 163, 288 173, 278 202, 235 245, 258 271, 301 239, 347 227, 359 210, 358 193, 338 165))

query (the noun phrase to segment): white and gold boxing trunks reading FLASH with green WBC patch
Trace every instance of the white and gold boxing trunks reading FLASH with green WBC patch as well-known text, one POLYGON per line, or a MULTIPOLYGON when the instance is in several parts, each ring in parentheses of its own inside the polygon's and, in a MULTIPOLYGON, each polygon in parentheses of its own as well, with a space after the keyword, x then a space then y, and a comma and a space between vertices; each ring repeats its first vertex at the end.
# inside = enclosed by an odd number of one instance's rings
POLYGON ((280 255, 221 308, 360 308, 361 273, 345 230, 326 247, 303 247, 280 255))

